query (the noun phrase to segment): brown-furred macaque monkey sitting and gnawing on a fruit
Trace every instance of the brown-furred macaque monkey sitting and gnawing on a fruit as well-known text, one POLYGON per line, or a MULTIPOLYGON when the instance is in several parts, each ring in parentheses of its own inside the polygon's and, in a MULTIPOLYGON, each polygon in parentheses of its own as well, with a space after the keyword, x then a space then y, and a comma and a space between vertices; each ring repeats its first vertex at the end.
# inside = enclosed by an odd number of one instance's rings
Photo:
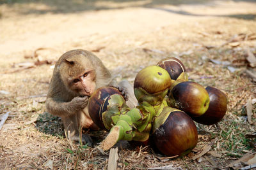
MULTIPOLYGON (((124 88, 118 90, 125 96, 127 85, 123 84, 124 88)), ((79 132, 81 128, 99 129, 88 113, 88 99, 96 89, 104 86, 116 86, 115 80, 93 53, 71 50, 56 62, 45 104, 49 113, 63 120, 67 138, 79 141, 81 136, 83 143, 92 146, 90 136, 79 132)), ((131 91, 131 86, 128 88, 131 91)))

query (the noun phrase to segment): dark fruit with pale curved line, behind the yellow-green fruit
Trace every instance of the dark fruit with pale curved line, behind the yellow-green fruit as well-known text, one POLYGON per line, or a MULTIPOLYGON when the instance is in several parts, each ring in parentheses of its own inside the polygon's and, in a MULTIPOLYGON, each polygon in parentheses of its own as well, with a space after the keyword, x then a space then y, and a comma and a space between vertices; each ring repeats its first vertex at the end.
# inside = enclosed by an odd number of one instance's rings
POLYGON ((157 66, 162 67, 168 71, 172 80, 177 80, 180 74, 186 71, 182 62, 175 57, 168 57, 166 59, 160 60, 157 63, 157 66))

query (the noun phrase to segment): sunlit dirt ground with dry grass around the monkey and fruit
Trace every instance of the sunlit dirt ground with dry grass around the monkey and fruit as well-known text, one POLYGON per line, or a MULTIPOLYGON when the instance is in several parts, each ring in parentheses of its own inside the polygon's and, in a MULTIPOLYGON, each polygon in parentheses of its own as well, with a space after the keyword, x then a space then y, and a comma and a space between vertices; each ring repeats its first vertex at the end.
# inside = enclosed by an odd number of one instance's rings
POLYGON ((227 94, 220 123, 196 124, 191 154, 168 158, 130 143, 118 150, 118 169, 256 164, 256 64, 248 60, 256 56, 256 1, 0 0, 0 118, 9 113, 0 130, 0 169, 108 168, 109 151, 98 147, 107 132, 88 131, 95 147, 81 146, 65 138, 60 118, 45 113, 54 62, 76 48, 131 83, 143 67, 178 57, 191 81, 227 94), (210 151, 193 160, 213 139, 210 151), (234 163, 245 154, 252 159, 234 163))

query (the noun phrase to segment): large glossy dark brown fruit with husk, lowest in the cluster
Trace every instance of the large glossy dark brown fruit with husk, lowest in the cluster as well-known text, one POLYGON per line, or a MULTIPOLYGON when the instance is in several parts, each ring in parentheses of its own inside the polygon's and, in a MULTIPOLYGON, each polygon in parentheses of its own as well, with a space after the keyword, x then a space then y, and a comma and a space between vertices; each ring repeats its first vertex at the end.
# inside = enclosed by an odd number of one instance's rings
POLYGON ((157 149, 167 156, 183 156, 195 148, 198 141, 196 125, 186 113, 165 107, 155 118, 152 139, 157 149))

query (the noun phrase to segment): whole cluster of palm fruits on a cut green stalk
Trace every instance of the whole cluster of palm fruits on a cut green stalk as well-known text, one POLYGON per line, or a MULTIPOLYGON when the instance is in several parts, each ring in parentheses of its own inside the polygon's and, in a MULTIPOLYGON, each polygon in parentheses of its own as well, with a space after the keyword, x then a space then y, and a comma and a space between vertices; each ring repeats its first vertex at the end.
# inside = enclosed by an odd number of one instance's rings
POLYGON ((223 92, 193 81, 180 60, 169 57, 142 69, 134 80, 138 106, 129 108, 113 87, 97 89, 90 97, 93 122, 109 131, 102 141, 108 150, 119 140, 152 141, 164 155, 186 155, 196 146, 196 125, 216 124, 227 111, 223 92))

